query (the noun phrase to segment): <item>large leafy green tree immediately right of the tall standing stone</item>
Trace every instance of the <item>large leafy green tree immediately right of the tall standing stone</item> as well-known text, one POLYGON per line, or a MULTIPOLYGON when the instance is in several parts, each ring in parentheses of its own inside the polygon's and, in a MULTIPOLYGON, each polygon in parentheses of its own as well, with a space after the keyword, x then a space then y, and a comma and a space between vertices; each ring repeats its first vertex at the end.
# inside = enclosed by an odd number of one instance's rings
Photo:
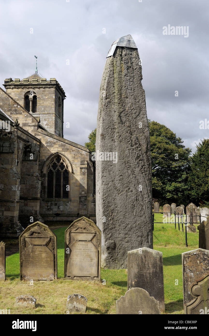
POLYGON ((167 203, 185 202, 191 149, 185 148, 165 125, 148 121, 150 129, 153 198, 167 203))

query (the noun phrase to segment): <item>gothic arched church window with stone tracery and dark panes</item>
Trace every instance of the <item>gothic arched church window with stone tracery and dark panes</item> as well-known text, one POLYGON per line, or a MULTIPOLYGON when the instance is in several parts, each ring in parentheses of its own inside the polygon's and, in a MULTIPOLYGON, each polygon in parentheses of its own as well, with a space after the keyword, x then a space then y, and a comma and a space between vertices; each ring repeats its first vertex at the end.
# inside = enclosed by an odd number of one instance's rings
POLYGON ((47 198, 69 198, 68 165, 57 155, 47 170, 47 198))

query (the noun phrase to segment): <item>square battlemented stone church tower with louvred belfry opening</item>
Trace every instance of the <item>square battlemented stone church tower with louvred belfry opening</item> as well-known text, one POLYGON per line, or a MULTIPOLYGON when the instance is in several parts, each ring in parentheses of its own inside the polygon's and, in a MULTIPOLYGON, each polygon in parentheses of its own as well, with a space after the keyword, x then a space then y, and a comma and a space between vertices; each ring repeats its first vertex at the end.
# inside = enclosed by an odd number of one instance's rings
POLYGON ((23 80, 5 79, 6 92, 50 133, 63 137, 64 90, 55 78, 35 74, 23 80))

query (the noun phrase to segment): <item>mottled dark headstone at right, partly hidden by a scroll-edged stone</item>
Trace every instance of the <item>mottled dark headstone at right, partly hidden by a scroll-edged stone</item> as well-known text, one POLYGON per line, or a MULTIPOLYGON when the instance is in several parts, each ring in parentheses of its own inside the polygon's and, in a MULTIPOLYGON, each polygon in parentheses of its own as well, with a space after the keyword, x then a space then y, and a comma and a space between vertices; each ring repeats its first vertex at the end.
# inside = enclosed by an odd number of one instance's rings
POLYGON ((209 251, 196 249, 182 253, 183 274, 183 303, 186 313, 186 304, 194 300, 191 294, 191 285, 202 281, 209 275, 209 251))

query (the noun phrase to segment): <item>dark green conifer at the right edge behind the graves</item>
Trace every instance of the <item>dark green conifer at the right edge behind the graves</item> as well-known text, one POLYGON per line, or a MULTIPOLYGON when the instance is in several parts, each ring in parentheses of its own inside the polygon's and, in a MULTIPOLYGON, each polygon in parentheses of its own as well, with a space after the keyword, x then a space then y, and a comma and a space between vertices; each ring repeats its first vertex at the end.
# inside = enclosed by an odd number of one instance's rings
POLYGON ((209 139, 201 140, 192 156, 189 175, 191 199, 195 204, 209 206, 209 139))

